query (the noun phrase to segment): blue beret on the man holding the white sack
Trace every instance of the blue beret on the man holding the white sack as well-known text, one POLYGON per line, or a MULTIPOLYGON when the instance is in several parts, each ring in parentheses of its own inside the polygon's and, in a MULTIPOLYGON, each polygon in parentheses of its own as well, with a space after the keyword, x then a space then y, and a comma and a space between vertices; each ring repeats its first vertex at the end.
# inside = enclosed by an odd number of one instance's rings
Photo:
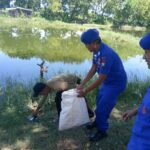
POLYGON ((99 39, 99 32, 97 29, 88 29, 81 35, 81 42, 84 44, 91 44, 99 39))

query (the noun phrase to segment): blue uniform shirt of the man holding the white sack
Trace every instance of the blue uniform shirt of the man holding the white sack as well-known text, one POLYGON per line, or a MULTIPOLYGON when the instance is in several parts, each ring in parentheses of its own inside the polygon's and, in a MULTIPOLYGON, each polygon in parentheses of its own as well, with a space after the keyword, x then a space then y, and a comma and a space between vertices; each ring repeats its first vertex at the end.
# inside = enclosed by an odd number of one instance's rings
POLYGON ((126 84, 127 76, 120 57, 105 43, 102 42, 99 50, 93 53, 93 64, 97 65, 98 74, 107 75, 104 84, 117 86, 126 84))

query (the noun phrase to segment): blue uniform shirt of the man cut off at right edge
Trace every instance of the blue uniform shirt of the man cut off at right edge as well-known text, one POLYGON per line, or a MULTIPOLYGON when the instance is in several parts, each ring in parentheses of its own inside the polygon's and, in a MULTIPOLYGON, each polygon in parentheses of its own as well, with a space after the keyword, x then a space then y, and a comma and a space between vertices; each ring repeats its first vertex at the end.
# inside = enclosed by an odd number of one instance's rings
POLYGON ((128 150, 150 150, 150 88, 138 109, 128 150))

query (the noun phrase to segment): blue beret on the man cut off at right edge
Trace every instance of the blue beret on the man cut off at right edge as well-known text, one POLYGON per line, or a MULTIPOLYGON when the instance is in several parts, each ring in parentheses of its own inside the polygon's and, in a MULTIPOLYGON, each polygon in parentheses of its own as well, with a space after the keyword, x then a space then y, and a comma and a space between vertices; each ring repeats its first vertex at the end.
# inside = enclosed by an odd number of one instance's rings
POLYGON ((143 36, 139 44, 144 50, 150 50, 150 32, 143 36))

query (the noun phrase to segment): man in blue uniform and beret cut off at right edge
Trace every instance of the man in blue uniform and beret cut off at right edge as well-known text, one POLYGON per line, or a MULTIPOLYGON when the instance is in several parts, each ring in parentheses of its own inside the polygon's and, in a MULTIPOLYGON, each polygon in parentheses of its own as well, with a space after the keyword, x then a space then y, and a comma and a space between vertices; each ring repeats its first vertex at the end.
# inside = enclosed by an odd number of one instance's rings
MULTIPOLYGON (((144 59, 150 69, 150 32, 147 33, 139 42, 144 49, 144 59)), ((150 88, 138 108, 127 111, 123 114, 123 119, 127 121, 136 115, 136 121, 132 129, 132 135, 128 144, 128 150, 150 150, 150 88)))

